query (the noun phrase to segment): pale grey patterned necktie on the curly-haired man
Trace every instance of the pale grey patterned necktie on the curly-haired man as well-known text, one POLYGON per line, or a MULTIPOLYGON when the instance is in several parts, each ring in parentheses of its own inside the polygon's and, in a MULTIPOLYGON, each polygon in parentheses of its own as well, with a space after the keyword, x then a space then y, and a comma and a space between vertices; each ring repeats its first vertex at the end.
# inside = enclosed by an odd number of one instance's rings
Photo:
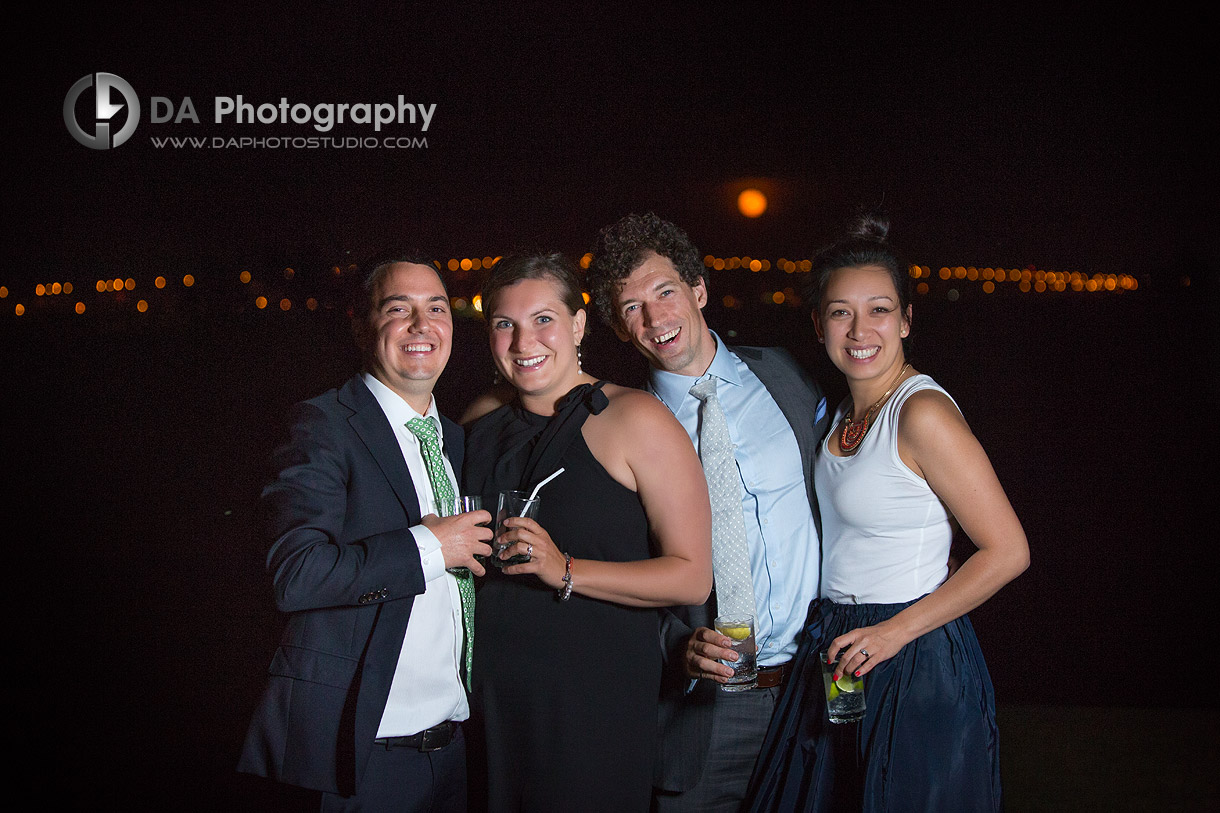
POLYGON ((717 615, 754 615, 750 552, 745 544, 742 487, 728 439, 728 421, 716 397, 716 378, 691 387, 699 408, 699 460, 711 498, 711 571, 716 582, 717 615))

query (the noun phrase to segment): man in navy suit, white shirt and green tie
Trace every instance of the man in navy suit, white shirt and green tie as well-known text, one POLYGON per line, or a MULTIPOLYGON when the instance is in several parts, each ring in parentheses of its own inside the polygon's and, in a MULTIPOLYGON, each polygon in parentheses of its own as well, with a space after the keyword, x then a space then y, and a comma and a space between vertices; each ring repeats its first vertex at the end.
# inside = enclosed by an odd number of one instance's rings
POLYGON ((365 371, 296 405, 260 500, 288 619, 238 769, 323 811, 464 811, 462 580, 483 573, 490 515, 451 509, 462 432, 432 398, 453 342, 434 265, 378 264, 354 323, 365 371))

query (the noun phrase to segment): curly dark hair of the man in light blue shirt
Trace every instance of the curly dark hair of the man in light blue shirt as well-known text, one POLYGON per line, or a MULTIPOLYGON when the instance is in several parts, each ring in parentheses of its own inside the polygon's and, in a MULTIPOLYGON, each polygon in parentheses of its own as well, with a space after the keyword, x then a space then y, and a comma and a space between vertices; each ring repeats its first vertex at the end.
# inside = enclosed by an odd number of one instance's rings
POLYGON ((616 323, 614 300, 620 284, 644 262, 648 251, 672 262, 688 286, 699 284, 704 277, 703 260, 686 232, 653 212, 627 215, 598 234, 586 275, 593 305, 606 325, 616 323))

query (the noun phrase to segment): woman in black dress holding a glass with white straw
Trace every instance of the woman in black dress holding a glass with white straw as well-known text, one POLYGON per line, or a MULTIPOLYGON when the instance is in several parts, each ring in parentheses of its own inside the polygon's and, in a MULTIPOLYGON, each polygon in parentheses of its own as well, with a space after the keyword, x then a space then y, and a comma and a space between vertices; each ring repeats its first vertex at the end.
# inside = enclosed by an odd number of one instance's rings
POLYGON ((468 427, 466 491, 494 507, 500 491, 564 474, 537 520, 505 522, 501 558, 529 560, 489 568, 478 588, 486 768, 471 784, 486 782, 490 811, 643 812, 661 669, 653 608, 711 588, 703 469, 660 400, 582 370, 584 300, 561 255, 501 260, 483 313, 515 394, 468 427))

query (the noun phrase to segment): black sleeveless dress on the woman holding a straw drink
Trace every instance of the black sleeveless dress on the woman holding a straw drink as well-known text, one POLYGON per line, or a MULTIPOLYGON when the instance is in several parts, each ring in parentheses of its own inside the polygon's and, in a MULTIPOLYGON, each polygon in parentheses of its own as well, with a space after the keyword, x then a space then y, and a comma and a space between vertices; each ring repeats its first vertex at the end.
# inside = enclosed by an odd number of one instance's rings
MULTIPOLYGON (((538 522, 576 559, 651 555, 636 492, 589 452, 581 426, 604 382, 570 392, 551 417, 509 404, 468 430, 466 493, 493 514, 501 490, 543 487, 538 522)), ((580 584, 580 563, 573 570, 580 584)), ((489 566, 475 604, 471 809, 647 811, 661 676, 658 615, 489 566), (478 724, 482 724, 482 739, 478 724), (482 800, 486 787, 487 798, 482 800)))

